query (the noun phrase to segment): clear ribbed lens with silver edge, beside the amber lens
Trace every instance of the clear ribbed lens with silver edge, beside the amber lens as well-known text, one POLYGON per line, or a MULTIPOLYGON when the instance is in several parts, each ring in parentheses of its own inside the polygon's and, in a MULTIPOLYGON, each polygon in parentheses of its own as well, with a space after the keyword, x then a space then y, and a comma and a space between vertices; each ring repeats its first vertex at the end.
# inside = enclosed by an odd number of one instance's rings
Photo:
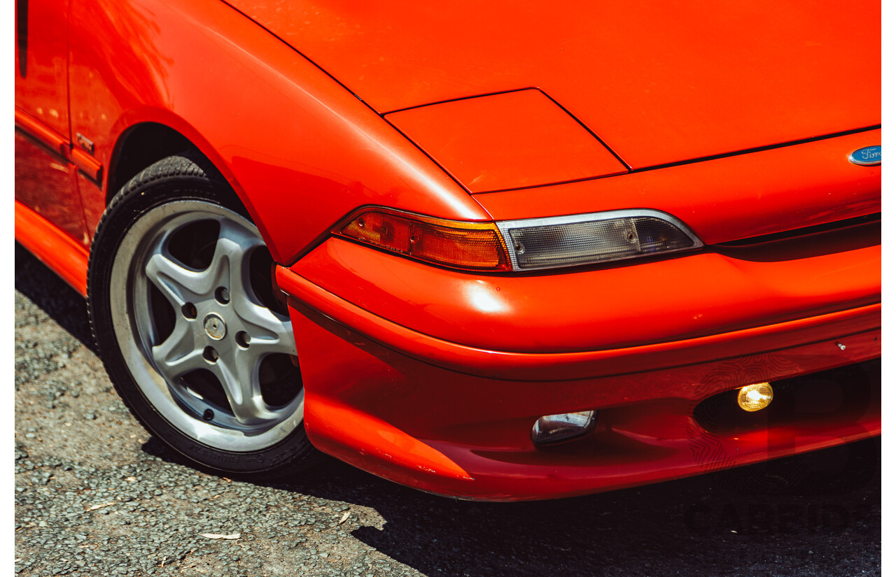
POLYGON ((702 247, 674 216, 614 210, 497 223, 514 270, 570 267, 702 247))

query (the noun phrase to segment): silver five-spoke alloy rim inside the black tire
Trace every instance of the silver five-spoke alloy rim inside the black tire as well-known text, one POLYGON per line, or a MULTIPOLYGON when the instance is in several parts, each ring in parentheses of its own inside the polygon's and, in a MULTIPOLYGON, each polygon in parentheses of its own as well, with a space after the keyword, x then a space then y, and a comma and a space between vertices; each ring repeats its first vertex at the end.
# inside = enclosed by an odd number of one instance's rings
POLYGON ((204 445, 257 451, 302 422, 296 343, 271 267, 250 221, 199 199, 151 208, 116 252, 119 348, 155 410, 204 445))

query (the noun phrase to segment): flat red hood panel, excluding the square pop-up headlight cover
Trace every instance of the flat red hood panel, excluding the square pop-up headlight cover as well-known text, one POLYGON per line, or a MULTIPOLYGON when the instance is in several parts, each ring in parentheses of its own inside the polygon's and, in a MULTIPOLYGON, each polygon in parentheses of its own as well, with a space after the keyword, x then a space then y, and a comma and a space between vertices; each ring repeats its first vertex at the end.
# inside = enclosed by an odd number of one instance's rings
POLYGON ((381 113, 538 87, 634 168, 880 123, 876 3, 231 4, 381 113))

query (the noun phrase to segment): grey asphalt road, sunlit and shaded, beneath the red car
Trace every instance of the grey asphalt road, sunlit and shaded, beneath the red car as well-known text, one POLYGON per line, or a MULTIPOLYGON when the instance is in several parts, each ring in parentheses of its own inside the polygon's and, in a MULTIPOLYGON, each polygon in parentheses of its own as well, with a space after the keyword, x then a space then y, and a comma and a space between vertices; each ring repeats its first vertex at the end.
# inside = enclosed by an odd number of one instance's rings
POLYGON ((20 575, 881 573, 877 439, 522 504, 429 496, 335 461, 279 486, 194 471, 116 397, 83 300, 18 245, 15 258, 20 575))

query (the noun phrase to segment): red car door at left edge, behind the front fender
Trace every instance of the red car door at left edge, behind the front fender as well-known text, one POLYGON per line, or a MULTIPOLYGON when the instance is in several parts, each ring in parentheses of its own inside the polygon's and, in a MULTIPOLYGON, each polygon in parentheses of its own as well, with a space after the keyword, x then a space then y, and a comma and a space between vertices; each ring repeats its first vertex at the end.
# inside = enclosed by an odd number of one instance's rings
POLYGON ((71 162, 69 0, 16 0, 15 199, 90 242, 71 162))

